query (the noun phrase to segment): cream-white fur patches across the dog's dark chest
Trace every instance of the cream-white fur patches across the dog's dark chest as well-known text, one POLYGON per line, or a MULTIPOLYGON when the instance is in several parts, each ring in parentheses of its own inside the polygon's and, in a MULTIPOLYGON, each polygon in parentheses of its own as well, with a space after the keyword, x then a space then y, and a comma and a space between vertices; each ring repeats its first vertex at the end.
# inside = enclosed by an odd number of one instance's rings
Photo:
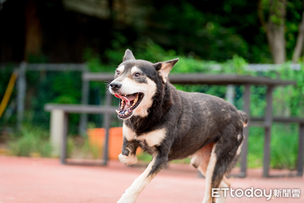
POLYGON ((160 145, 162 141, 166 138, 166 129, 153 130, 148 133, 137 136, 137 134, 125 124, 123 125, 123 136, 127 141, 139 140, 145 142, 149 147, 154 147, 160 145))

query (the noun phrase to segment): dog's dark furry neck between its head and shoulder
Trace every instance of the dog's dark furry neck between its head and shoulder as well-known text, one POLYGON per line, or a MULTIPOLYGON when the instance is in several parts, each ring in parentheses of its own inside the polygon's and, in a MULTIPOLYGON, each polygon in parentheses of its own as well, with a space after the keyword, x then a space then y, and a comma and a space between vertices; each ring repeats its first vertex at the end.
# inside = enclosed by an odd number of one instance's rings
POLYGON ((125 120, 124 123, 137 134, 156 129, 174 103, 174 90, 176 90, 175 87, 169 82, 161 85, 153 97, 154 101, 148 109, 148 115, 146 117, 132 116, 130 119, 125 120), (152 109, 153 111, 151 111, 152 109))

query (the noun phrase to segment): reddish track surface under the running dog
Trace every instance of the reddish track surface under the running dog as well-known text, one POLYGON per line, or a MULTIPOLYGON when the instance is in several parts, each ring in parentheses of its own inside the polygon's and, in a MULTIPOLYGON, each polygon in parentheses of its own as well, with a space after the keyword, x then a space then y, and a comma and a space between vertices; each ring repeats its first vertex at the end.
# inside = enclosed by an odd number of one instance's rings
MULTIPOLYGON (((116 202, 143 171, 118 161, 108 166, 61 165, 58 159, 0 156, 0 203, 116 202)), ((272 171, 272 173, 274 173, 272 171)), ((300 189, 300 198, 230 197, 226 202, 304 202, 304 178, 262 178, 249 170, 248 178, 231 178, 232 188, 300 189)), ((137 202, 202 202, 205 179, 188 165, 171 164, 139 195, 137 202)))

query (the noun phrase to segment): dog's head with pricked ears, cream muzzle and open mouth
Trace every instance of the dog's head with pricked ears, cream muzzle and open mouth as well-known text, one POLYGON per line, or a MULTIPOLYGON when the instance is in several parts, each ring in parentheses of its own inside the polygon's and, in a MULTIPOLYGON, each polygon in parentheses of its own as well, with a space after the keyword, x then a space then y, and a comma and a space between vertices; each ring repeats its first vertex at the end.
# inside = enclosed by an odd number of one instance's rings
POLYGON ((129 119, 133 115, 146 117, 157 91, 163 89, 168 75, 178 58, 158 63, 136 60, 127 49, 123 62, 115 71, 109 91, 120 98, 118 117, 129 119))

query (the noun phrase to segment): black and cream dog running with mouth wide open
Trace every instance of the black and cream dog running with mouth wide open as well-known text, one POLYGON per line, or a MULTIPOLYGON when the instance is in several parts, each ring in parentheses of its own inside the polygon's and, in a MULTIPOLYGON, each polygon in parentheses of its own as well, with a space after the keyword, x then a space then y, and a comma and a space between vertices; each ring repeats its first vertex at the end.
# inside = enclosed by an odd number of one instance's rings
POLYGON ((230 187, 226 176, 241 152, 248 117, 219 97, 177 90, 168 79, 177 61, 138 60, 127 49, 109 84, 109 92, 120 99, 116 112, 123 120, 119 160, 136 163, 138 147, 153 156, 118 203, 135 202, 169 161, 186 157, 206 177, 203 202, 225 200, 223 194, 212 197, 212 188, 230 187))

